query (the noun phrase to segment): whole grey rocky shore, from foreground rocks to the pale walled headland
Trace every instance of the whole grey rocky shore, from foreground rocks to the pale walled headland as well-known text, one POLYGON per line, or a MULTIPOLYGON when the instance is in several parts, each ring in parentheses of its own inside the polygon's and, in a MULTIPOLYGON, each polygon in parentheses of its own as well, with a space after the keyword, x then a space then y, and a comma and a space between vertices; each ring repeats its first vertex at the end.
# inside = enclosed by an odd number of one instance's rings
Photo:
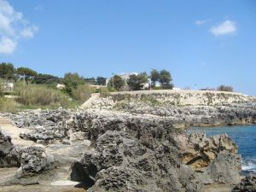
POLYGON ((11 129, 22 131, 15 138, 1 127, 0 167, 17 171, 0 179, 0 185, 4 189, 44 183, 47 189, 53 181, 66 179, 100 192, 197 192, 216 184, 237 185, 234 191, 245 191, 248 179, 241 181, 236 143, 227 135, 189 135, 183 128, 256 123, 256 99, 212 92, 189 98, 189 94, 175 98, 168 91, 113 94, 96 96, 76 111, 1 113, 11 119, 11 129), (205 98, 208 101, 202 102, 205 98), (14 144, 16 139, 32 144, 14 144))

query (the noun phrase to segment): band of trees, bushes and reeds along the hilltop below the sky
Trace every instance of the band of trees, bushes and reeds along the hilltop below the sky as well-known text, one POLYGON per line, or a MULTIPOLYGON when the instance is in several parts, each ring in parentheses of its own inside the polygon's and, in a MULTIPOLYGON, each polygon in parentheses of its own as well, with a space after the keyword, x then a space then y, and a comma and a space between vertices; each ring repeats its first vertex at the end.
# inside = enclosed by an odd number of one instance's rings
MULTIPOLYGON (((149 75, 146 72, 132 73, 128 77, 115 74, 106 83, 107 79, 102 76, 84 78, 79 73, 66 73, 64 78, 59 78, 28 67, 15 68, 12 63, 3 62, 0 63, 0 111, 15 111, 17 108, 76 108, 88 100, 91 93, 109 96, 111 91, 173 88, 172 75, 165 69, 152 69, 149 75), (13 92, 6 93, 9 83, 15 86, 14 89, 11 87, 13 92), (57 84, 62 84, 61 89, 57 89, 57 84), (13 99, 5 98, 6 94, 13 95, 9 96, 13 99)), ((217 90, 233 91, 233 87, 220 85, 217 90)))

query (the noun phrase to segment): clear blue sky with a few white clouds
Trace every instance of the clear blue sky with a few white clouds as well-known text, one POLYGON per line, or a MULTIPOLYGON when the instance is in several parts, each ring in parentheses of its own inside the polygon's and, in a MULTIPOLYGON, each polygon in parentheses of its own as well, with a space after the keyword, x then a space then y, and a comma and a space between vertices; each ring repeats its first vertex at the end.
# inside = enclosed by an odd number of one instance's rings
POLYGON ((167 69, 256 96, 254 0, 0 0, 0 62, 62 77, 167 69))

